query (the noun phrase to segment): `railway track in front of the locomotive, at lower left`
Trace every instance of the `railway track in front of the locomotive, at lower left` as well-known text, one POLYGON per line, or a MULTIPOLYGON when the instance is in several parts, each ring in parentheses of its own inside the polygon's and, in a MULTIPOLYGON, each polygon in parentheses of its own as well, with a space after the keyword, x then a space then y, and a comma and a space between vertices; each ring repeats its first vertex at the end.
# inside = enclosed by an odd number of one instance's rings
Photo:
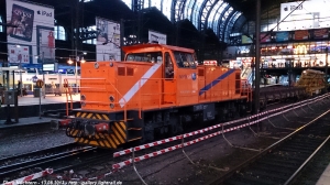
POLYGON ((72 167, 80 164, 82 161, 85 163, 85 161, 95 155, 99 156, 96 148, 78 146, 76 143, 69 143, 22 155, 4 157, 0 160, 0 182, 30 175, 33 172, 47 167, 72 167))

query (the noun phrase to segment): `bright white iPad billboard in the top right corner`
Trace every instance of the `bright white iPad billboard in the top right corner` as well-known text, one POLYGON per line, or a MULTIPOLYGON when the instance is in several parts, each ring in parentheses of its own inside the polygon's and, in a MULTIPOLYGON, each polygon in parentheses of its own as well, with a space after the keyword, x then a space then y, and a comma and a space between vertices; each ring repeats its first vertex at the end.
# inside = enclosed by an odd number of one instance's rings
POLYGON ((329 28, 330 1, 312 0, 280 4, 280 31, 329 28))

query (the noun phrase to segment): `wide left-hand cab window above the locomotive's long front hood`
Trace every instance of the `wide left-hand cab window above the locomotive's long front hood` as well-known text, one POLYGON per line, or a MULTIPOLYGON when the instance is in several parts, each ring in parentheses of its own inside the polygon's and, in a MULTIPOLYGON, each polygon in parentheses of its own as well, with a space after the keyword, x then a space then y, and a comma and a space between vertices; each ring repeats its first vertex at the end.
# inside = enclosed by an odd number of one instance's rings
POLYGON ((127 55, 125 61, 132 62, 146 62, 146 63, 162 63, 162 52, 144 52, 144 53, 130 53, 127 55))

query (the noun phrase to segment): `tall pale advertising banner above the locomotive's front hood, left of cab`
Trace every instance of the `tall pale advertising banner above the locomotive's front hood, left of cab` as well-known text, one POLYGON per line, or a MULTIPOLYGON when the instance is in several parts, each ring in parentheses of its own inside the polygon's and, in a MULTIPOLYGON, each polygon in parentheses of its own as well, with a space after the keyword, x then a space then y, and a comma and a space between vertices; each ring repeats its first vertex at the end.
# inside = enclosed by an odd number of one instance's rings
POLYGON ((96 18, 97 61, 121 61, 120 23, 96 18))

